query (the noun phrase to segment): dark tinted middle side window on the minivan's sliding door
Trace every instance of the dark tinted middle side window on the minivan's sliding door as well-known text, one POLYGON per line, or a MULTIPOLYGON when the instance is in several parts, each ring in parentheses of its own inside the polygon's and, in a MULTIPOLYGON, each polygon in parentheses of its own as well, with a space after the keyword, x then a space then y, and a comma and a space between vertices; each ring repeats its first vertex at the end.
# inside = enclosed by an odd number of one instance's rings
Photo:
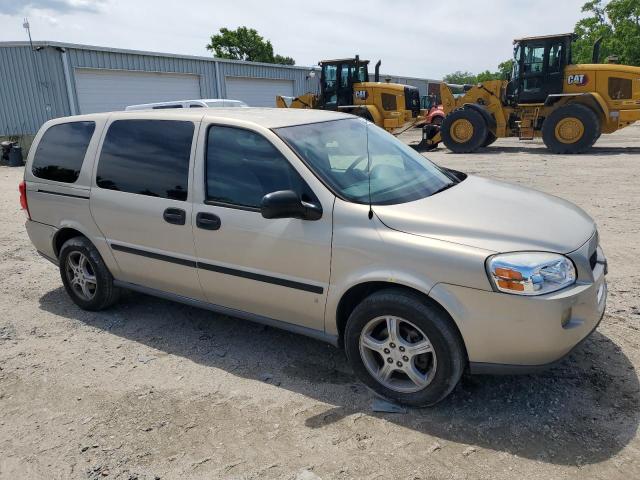
POLYGON ((100 188, 186 200, 194 126, 179 120, 116 120, 102 145, 100 188))

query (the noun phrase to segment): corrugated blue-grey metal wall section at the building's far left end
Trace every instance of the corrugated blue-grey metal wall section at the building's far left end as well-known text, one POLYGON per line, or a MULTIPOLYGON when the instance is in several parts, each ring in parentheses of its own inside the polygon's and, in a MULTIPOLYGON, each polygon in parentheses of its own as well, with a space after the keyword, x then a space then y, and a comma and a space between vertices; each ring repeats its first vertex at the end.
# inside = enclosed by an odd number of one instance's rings
POLYGON ((69 114, 61 53, 55 48, 0 48, 0 135, 35 133, 69 114))

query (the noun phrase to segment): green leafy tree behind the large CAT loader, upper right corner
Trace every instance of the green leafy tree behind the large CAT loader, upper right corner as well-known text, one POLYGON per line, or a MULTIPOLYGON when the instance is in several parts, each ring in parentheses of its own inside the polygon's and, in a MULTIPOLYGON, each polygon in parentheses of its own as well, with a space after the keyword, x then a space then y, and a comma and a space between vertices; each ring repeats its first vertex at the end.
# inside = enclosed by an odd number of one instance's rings
POLYGON ((574 63, 591 63, 593 44, 602 37, 600 58, 617 55, 621 63, 640 65, 640 0, 591 0, 587 16, 576 23, 574 63))

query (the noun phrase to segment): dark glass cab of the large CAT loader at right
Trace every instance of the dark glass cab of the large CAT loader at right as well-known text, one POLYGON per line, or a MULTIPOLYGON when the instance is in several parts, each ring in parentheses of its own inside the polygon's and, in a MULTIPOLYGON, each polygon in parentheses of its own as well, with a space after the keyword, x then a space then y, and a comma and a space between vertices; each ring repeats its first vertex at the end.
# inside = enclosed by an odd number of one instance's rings
POLYGON ((514 67, 507 90, 512 103, 544 103, 549 95, 562 93, 573 37, 568 33, 514 40, 514 67))

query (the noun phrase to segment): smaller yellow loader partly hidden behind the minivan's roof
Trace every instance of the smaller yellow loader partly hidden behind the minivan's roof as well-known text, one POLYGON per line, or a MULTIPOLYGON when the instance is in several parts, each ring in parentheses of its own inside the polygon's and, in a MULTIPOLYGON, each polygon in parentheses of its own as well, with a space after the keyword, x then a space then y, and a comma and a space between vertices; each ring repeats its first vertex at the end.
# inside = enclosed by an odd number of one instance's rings
POLYGON ((317 108, 350 113, 397 135, 419 119, 420 92, 411 85, 380 82, 380 65, 369 81, 369 60, 355 58, 323 60, 320 91, 299 97, 276 96, 279 108, 317 108))

